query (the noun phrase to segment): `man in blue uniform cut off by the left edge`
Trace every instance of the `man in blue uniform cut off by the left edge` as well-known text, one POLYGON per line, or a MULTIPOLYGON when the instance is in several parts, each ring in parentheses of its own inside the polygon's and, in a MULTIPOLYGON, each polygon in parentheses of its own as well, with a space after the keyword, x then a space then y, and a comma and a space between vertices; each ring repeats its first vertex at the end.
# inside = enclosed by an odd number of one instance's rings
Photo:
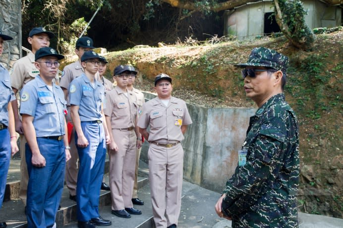
MULTIPOLYGON (((0 31, 0 56, 3 42, 13 38, 1 34, 0 31)), ((17 137, 14 129, 14 115, 10 101, 15 99, 11 88, 9 74, 0 64, 0 208, 6 188, 7 173, 10 155, 18 151, 17 137)), ((5 228, 5 222, 0 222, 0 228, 5 228)))

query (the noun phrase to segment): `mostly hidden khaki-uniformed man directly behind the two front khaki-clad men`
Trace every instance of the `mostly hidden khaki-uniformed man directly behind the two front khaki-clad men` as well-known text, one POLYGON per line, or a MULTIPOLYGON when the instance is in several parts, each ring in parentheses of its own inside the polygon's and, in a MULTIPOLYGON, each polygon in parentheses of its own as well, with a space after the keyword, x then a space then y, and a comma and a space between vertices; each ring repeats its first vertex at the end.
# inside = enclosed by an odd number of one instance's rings
MULTIPOLYGON (((131 77, 127 80, 127 86, 126 89, 128 91, 133 91, 137 98, 137 104, 138 104, 138 116, 142 115, 142 106, 145 103, 144 100, 144 94, 135 88, 133 88, 133 84, 136 79, 136 71, 131 71, 131 77)), ((143 138, 142 138, 143 139, 143 138)), ((136 150, 136 169, 135 169, 135 181, 133 184, 133 192, 132 192, 132 203, 136 205, 144 205, 144 202, 138 198, 137 194, 137 182, 138 182, 138 163, 139 163, 139 157, 141 154, 141 148, 137 148, 136 150)))

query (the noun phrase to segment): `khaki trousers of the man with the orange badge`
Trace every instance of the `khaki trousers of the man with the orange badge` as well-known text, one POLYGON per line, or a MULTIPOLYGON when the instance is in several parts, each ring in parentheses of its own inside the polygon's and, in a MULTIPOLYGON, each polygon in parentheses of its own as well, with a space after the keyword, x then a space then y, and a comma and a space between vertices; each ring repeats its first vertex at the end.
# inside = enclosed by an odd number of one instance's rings
POLYGON ((181 210, 183 149, 180 143, 170 148, 150 144, 149 180, 156 228, 177 225, 181 210))

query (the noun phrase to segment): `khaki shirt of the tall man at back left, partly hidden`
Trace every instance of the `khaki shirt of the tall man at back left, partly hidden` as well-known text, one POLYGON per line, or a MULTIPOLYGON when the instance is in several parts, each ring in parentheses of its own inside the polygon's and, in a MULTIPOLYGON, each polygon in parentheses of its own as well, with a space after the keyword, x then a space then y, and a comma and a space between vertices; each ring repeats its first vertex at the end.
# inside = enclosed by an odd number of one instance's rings
POLYGON ((30 52, 26 56, 18 59, 11 72, 11 87, 21 90, 26 83, 39 74, 39 70, 35 67, 35 55, 30 52))

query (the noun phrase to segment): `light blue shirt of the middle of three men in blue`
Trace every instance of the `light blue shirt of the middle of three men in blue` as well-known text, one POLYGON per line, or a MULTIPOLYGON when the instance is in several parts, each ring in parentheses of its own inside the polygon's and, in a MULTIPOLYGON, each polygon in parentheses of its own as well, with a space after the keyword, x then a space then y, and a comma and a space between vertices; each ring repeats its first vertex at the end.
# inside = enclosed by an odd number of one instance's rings
POLYGON ((20 91, 20 114, 33 116, 36 137, 65 135, 66 101, 62 89, 53 83, 52 90, 39 75, 20 91))

